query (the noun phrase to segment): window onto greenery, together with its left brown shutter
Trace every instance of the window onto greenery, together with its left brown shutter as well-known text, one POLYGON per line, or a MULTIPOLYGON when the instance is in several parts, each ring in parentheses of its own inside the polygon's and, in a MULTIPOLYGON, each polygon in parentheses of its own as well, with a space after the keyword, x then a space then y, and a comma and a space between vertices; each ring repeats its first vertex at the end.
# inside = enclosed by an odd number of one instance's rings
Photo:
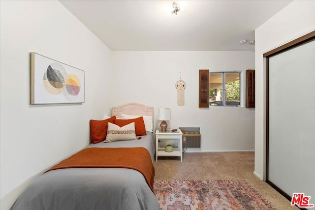
POLYGON ((199 70, 199 107, 239 106, 240 76, 236 71, 209 73, 209 70, 199 70))

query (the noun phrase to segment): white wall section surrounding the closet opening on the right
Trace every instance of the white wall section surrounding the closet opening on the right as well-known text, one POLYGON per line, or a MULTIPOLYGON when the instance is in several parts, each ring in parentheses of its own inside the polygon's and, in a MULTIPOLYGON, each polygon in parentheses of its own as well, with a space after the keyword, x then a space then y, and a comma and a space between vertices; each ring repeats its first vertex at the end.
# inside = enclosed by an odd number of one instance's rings
POLYGON ((315 30, 315 0, 295 0, 255 30, 255 169, 266 177, 266 66, 263 54, 315 30))

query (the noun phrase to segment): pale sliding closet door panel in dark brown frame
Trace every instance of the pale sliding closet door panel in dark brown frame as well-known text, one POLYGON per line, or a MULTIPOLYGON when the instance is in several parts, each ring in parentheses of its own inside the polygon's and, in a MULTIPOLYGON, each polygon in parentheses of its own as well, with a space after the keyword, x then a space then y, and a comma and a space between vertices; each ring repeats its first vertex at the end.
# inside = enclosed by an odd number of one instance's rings
POLYGON ((315 40, 267 60, 267 182, 315 204, 315 40))

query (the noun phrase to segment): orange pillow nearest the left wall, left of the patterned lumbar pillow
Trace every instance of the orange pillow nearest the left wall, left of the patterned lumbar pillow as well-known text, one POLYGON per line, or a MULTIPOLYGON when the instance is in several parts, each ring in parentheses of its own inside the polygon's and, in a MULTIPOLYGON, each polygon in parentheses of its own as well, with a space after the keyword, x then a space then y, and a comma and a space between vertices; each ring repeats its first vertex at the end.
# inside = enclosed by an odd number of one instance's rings
POLYGON ((116 116, 106 120, 90 120, 90 136, 93 144, 99 143, 106 139, 107 122, 114 123, 116 116))

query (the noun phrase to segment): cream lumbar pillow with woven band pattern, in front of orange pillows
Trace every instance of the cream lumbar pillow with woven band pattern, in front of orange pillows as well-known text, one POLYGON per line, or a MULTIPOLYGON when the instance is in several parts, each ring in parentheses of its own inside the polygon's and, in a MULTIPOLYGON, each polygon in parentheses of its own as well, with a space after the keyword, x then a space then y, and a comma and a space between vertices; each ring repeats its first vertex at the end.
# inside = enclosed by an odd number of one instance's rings
POLYGON ((134 122, 119 127, 111 122, 107 123, 107 135, 104 142, 116 142, 123 140, 135 140, 136 131, 134 129, 134 122))

